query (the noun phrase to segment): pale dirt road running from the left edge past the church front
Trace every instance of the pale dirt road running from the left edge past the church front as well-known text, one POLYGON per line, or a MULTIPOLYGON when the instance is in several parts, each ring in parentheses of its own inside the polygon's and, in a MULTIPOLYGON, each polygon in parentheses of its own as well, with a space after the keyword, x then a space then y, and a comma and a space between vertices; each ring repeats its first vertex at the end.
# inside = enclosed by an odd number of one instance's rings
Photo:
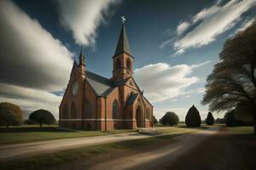
POLYGON ((0 161, 12 160, 25 156, 35 156, 42 153, 51 153, 60 150, 69 150, 82 146, 96 144, 108 144, 131 139, 144 139, 152 137, 141 133, 121 133, 96 137, 84 137, 74 139, 56 139, 44 142, 33 142, 27 144, 9 144, 0 146, 0 161))

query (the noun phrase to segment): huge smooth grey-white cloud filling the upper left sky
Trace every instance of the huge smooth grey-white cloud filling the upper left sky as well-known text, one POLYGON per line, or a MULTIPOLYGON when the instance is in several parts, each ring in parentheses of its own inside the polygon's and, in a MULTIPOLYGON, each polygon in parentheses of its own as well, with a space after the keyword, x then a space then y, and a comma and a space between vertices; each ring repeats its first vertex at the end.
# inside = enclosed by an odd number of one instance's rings
POLYGON ((67 84, 72 53, 10 1, 0 2, 0 82, 49 91, 67 84))

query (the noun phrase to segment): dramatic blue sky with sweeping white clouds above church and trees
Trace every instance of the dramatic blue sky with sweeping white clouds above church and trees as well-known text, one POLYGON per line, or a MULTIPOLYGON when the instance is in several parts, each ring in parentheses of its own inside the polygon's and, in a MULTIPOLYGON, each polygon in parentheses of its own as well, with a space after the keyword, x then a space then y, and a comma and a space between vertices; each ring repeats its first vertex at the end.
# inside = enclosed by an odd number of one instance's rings
POLYGON ((255 20, 256 0, 1 0, 0 102, 58 119, 80 46, 87 70, 112 76, 122 15, 134 78, 154 116, 174 111, 183 121, 195 105, 205 119, 207 76, 225 40, 255 20))

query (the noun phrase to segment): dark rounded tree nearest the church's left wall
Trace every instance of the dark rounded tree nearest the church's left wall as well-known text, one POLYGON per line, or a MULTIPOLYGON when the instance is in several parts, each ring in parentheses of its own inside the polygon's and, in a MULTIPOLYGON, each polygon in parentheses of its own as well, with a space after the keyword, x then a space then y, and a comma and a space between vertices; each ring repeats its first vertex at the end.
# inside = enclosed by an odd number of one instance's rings
POLYGON ((46 110, 40 109, 38 111, 33 111, 29 115, 29 121, 37 122, 42 127, 43 124, 53 124, 55 122, 55 117, 46 110))

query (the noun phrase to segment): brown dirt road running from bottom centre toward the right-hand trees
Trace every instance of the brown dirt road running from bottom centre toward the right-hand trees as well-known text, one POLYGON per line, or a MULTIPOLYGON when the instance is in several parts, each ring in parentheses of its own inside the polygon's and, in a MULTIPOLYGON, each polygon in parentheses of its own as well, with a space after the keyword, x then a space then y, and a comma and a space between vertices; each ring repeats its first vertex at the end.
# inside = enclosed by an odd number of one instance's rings
POLYGON ((183 156, 188 150, 200 145, 212 134, 216 133, 218 133, 218 127, 212 127, 198 133, 179 136, 174 139, 175 143, 160 147, 157 150, 148 150, 140 154, 120 157, 119 159, 114 159, 112 161, 104 161, 89 169, 97 170, 105 169, 106 167, 111 167, 112 170, 166 169, 172 162, 176 161, 177 157, 183 156))

